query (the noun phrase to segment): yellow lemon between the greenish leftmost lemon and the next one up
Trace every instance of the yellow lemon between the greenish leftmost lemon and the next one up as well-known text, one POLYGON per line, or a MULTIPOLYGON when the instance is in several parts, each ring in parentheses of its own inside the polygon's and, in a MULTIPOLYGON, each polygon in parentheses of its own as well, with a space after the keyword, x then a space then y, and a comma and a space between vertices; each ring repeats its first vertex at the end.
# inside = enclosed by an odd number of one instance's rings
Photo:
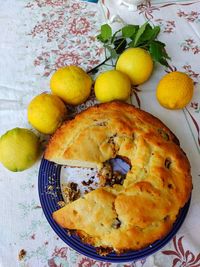
POLYGON ((52 134, 66 117, 62 100, 47 93, 34 97, 28 105, 28 121, 39 132, 52 134))

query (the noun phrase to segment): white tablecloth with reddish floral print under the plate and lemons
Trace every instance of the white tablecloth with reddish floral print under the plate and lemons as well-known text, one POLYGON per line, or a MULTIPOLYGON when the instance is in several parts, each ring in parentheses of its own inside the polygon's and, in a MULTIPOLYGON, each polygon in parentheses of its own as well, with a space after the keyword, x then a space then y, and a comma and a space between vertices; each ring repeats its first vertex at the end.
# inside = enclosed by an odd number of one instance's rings
MULTIPOLYGON (((95 39, 102 23, 118 28, 145 20, 161 26, 160 39, 172 61, 169 69, 156 65, 150 81, 135 88, 132 103, 166 123, 191 162, 194 189, 183 226, 167 246, 146 259, 97 262, 67 247, 47 223, 37 190, 40 162, 22 173, 0 166, 1 267, 200 266, 200 1, 146 1, 132 13, 115 0, 1 1, 0 134, 17 126, 31 128, 27 105, 33 96, 49 91, 54 70, 68 64, 90 69, 104 59, 95 39), (169 111, 157 103, 155 87, 164 73, 176 69, 194 79, 195 92, 185 109, 169 111), (24 257, 19 257, 23 250, 24 257)), ((86 105, 91 104, 93 98, 86 105)))

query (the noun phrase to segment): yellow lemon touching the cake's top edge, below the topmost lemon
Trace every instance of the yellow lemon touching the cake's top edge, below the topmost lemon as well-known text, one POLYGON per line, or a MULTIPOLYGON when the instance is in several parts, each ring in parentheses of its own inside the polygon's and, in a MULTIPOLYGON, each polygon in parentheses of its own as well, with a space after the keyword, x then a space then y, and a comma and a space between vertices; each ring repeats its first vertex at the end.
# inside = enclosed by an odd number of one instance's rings
POLYGON ((130 96, 131 82, 126 74, 117 70, 109 70, 97 77, 94 91, 100 102, 125 101, 130 96))

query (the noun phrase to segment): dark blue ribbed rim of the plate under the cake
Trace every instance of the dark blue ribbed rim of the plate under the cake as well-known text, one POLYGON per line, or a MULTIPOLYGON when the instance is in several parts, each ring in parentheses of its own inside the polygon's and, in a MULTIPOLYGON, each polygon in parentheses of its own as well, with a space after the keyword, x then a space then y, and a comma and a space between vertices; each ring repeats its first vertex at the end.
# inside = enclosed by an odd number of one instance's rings
POLYGON ((44 211, 44 214, 57 235, 71 248, 77 252, 93 258, 95 260, 106 261, 106 262, 130 262, 138 259, 145 258, 156 251, 160 250, 165 246, 177 233, 181 227, 189 209, 190 201, 185 205, 185 207, 180 211, 179 216, 174 223, 173 229, 171 232, 162 240, 156 241, 151 244, 149 247, 137 251, 130 251, 121 255, 116 253, 110 253, 107 256, 100 256, 96 253, 94 247, 84 244, 77 236, 68 236, 66 231, 61 228, 53 219, 52 213, 59 209, 57 204, 59 201, 63 201, 60 185, 60 165, 49 162, 45 159, 42 159, 40 170, 39 170, 39 197, 40 202, 44 211))

